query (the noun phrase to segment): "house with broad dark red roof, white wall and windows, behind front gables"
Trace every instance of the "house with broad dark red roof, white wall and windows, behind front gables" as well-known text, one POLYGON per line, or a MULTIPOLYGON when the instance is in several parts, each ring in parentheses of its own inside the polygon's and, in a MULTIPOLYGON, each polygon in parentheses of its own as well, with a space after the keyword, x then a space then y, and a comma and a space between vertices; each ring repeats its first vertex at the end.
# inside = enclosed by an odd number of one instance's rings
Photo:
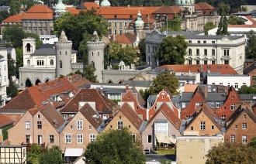
POLYGON ((81 89, 61 108, 61 114, 65 119, 73 118, 74 114, 77 114, 79 109, 86 103, 95 108, 103 120, 111 118, 112 110, 116 108, 116 104, 99 91, 95 89, 81 89))

